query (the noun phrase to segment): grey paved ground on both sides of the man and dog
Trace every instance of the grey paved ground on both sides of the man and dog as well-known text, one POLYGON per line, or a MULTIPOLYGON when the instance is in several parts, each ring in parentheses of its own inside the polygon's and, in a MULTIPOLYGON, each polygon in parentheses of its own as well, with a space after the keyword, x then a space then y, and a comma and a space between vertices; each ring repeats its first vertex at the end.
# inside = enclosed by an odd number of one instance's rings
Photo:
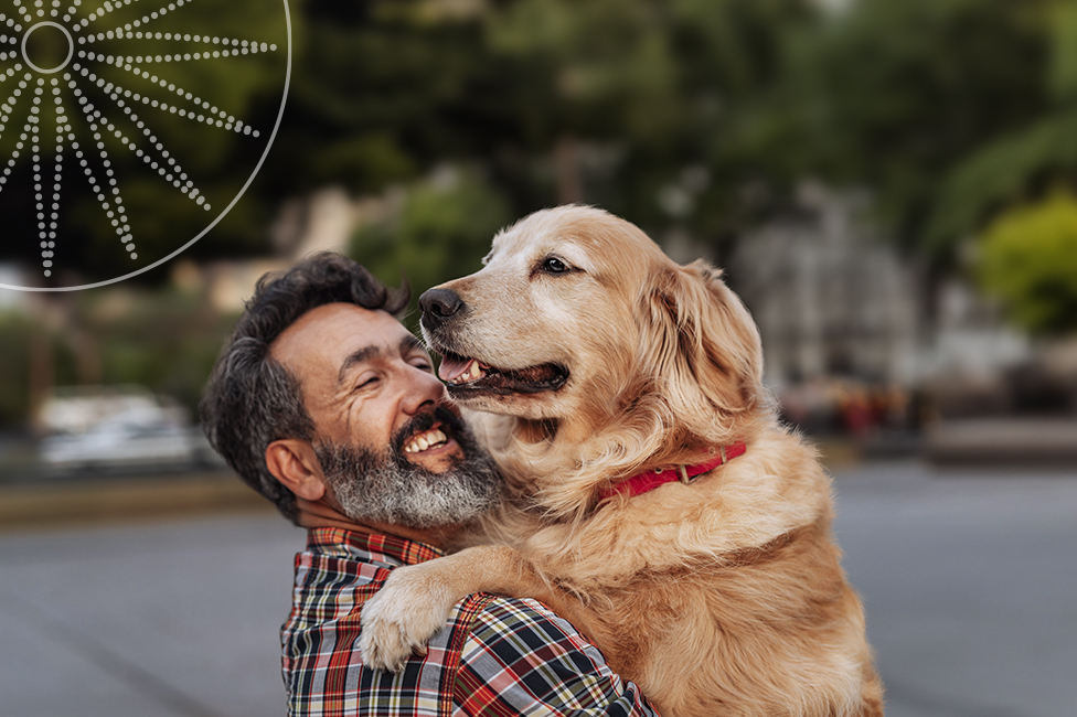
MULTIPOLYGON (((891 717, 1077 715, 1077 474, 835 471, 891 717)), ((0 535, 0 715, 282 715, 275 515, 0 535)))

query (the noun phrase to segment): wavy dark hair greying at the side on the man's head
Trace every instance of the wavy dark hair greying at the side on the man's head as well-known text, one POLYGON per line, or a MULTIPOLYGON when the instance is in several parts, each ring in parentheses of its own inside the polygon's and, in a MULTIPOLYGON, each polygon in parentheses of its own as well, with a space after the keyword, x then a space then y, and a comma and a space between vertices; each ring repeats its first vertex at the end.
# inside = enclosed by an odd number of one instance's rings
POLYGON ((311 255, 284 274, 266 274, 217 357, 202 396, 210 443, 245 483, 296 522, 296 495, 266 467, 275 440, 313 440, 314 424, 298 378, 269 355, 269 346, 299 317, 327 303, 353 303, 399 318, 410 299, 405 280, 388 289, 351 259, 311 255))

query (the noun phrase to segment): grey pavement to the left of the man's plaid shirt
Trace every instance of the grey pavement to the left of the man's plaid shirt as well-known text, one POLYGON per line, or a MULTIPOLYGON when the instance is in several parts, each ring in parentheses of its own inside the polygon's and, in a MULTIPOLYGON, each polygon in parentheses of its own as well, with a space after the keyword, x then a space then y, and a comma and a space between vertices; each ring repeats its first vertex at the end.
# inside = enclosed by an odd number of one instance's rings
POLYGON ((0 536, 0 715, 284 715, 274 514, 0 536))

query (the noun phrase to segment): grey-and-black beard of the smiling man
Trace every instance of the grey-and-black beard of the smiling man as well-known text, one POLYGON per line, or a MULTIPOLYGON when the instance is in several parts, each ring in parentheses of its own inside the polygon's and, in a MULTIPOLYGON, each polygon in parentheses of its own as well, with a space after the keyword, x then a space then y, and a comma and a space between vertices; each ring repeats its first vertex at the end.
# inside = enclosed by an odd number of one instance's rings
POLYGON ((345 515, 353 521, 431 528, 470 523, 500 502, 501 474, 462 425, 454 426, 454 435, 465 457, 441 473, 404 458, 398 446, 414 434, 409 424, 381 454, 362 446, 314 443, 329 488, 345 515))

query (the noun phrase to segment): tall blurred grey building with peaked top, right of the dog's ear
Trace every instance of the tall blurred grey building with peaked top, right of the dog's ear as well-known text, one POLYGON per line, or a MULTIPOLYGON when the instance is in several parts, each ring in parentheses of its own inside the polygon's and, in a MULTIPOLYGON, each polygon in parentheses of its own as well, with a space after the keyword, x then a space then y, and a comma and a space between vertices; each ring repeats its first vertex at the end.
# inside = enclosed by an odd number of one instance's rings
POLYGON ((770 385, 916 379, 921 287, 866 210, 863 194, 806 184, 796 212, 740 242, 729 268, 759 325, 770 385))

